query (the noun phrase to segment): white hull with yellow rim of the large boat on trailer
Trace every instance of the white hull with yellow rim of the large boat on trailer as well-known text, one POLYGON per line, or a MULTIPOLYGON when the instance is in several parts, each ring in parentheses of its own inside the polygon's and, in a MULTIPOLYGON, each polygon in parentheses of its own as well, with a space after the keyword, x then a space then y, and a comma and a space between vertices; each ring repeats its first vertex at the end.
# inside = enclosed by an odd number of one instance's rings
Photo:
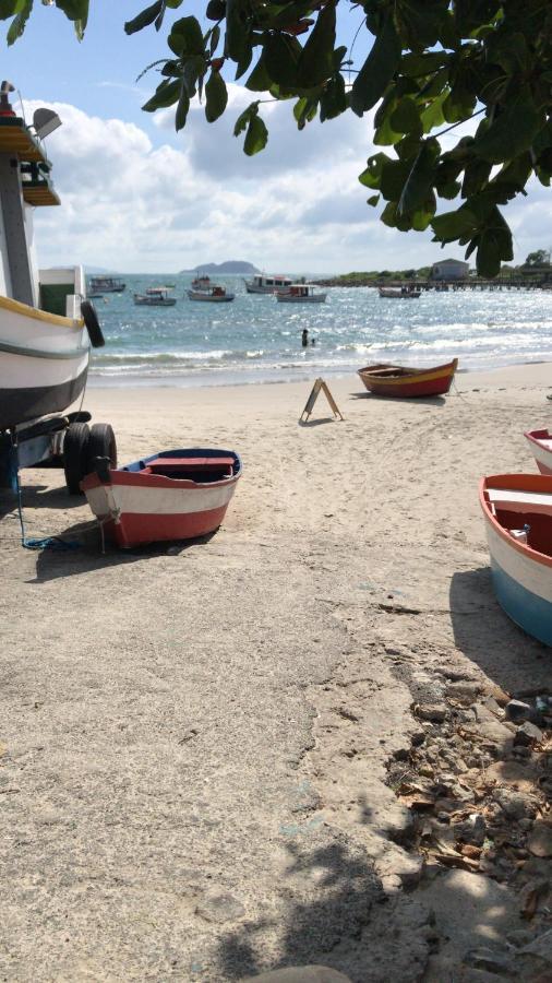
POLYGON ((0 297, 0 430, 67 410, 84 389, 88 358, 82 320, 0 297))

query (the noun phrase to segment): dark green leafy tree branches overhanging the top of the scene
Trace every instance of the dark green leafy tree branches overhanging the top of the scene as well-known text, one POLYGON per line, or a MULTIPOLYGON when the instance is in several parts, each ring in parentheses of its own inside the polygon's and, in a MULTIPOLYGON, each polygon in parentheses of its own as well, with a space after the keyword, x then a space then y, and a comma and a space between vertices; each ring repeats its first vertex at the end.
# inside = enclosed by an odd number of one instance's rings
MULTIPOLYGON (((0 17, 12 19, 10 44, 23 33, 33 2, 0 0, 0 17)), ((43 2, 62 10, 82 38, 89 0, 43 2)), ((161 81, 143 108, 175 106, 180 130, 199 93, 213 122, 227 106, 225 79, 241 80, 252 102, 235 134, 243 134, 249 155, 268 139, 262 117, 267 98, 291 100, 300 130, 315 117, 324 122, 375 109, 373 142, 388 150, 371 154, 360 174, 368 203, 384 203, 381 217, 388 226, 431 227, 434 241, 465 246, 466 257, 476 252, 480 274, 495 275, 503 260, 513 259, 501 206, 525 194, 532 176, 547 187, 552 177, 552 3, 351 4, 350 16, 373 36, 370 54, 357 64, 337 36, 339 2, 208 0, 204 24, 194 16, 171 23, 167 57, 155 63, 161 81), (443 133, 472 119, 472 134, 444 150, 443 133)), ((159 31, 167 10, 181 4, 156 0, 124 29, 159 31)))

